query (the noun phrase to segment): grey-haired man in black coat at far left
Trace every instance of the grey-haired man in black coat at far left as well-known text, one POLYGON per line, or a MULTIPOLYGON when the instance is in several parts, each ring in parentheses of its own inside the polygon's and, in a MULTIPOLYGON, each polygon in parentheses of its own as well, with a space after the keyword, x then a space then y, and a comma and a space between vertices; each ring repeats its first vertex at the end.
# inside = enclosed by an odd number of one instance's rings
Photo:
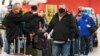
POLYGON ((11 43, 14 43, 14 39, 17 40, 17 37, 20 37, 23 34, 22 22, 24 20, 25 19, 23 18, 21 12, 21 5, 19 3, 14 4, 12 10, 5 16, 3 21, 3 25, 6 27, 6 37, 8 41, 8 51, 6 51, 7 53, 10 53, 10 45, 11 43))

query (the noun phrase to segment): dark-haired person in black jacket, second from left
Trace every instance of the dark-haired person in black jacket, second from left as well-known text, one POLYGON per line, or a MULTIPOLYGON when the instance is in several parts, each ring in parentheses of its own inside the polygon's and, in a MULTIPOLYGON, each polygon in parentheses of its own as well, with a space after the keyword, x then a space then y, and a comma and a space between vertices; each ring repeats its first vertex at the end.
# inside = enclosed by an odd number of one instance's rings
POLYGON ((44 26, 44 19, 38 15, 37 6, 33 5, 31 6, 31 8, 32 8, 32 11, 27 12, 25 14, 25 17, 28 18, 28 20, 25 21, 25 28, 26 28, 26 31, 28 32, 27 44, 30 44, 30 40, 32 40, 34 36, 38 35, 40 23, 41 23, 41 27, 44 26))

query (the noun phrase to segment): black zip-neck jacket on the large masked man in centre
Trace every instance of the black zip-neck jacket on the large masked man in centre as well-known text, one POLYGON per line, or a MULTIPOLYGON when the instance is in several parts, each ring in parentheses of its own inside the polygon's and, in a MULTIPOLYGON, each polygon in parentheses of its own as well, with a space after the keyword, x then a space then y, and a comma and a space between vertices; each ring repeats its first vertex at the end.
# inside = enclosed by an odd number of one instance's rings
POLYGON ((56 41, 67 41, 68 38, 72 40, 76 33, 76 23, 74 23, 72 14, 67 14, 59 21, 58 14, 55 14, 49 24, 47 32, 49 33, 52 29, 53 40, 56 41))

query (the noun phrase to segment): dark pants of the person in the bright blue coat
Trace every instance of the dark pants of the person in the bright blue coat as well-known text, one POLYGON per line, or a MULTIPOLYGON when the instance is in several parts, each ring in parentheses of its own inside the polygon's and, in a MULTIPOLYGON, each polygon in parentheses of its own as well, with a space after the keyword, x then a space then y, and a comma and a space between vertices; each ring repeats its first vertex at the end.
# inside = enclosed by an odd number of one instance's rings
POLYGON ((90 38, 87 36, 81 36, 81 54, 87 55, 90 48, 90 38))

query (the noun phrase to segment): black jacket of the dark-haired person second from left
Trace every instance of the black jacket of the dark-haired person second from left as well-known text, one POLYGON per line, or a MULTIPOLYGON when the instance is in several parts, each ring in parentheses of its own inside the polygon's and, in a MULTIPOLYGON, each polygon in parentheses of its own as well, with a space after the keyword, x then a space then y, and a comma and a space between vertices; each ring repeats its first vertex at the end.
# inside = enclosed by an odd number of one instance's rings
POLYGON ((31 12, 28 12, 25 14, 25 17, 28 18, 28 20, 25 21, 25 28, 28 33, 37 33, 39 30, 39 24, 41 23, 42 26, 44 25, 43 18, 38 16, 37 13, 33 14, 31 12))

